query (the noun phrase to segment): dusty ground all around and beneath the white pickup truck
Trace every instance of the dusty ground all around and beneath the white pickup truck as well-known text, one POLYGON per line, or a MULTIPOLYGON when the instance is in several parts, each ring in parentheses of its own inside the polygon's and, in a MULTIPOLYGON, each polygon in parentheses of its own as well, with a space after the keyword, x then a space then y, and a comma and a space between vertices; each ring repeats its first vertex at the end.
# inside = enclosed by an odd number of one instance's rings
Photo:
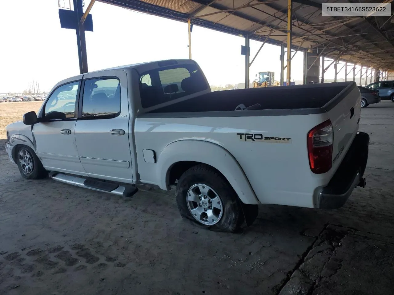
MULTIPOLYGON (((0 104, 0 128, 25 104, 0 104)), ((344 207, 261 205, 238 234, 182 220, 173 191, 25 180, 0 140, 0 294, 392 294, 394 103, 363 109, 360 130, 367 186, 344 207)))

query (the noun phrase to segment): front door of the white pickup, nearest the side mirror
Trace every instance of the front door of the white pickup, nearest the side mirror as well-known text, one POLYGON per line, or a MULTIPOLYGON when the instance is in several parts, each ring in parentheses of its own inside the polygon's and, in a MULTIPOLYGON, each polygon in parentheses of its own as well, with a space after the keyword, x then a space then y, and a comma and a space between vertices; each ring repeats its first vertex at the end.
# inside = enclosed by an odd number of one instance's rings
POLYGON ((56 88, 33 125, 36 152, 46 170, 86 175, 75 144, 76 101, 81 81, 56 88))

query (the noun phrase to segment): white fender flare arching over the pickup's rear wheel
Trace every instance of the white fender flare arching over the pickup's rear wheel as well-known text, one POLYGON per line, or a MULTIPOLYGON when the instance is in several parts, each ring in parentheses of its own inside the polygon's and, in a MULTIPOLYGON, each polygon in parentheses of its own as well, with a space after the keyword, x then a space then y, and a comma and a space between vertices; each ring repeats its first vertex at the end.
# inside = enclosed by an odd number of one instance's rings
POLYGON ((157 179, 169 190, 169 171, 177 162, 193 161, 219 170, 244 204, 260 204, 238 161, 222 146, 203 140, 179 140, 167 145, 158 156, 157 179))

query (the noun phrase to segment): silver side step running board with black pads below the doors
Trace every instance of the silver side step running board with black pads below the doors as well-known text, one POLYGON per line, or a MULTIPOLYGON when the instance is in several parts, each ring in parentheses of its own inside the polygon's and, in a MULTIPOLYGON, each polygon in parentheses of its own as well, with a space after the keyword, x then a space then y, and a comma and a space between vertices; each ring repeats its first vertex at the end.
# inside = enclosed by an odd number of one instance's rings
POLYGON ((61 183, 72 184, 82 188, 89 188, 91 190, 97 190, 99 192, 110 193, 122 197, 131 197, 138 192, 138 188, 132 184, 110 183, 92 178, 67 175, 60 172, 50 172, 49 177, 61 183))

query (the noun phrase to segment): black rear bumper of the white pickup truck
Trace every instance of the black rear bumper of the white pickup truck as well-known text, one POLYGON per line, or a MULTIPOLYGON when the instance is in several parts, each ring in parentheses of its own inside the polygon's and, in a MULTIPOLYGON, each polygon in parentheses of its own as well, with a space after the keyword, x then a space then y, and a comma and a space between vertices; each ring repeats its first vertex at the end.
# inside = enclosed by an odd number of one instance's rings
POLYGON ((340 208, 356 186, 365 186, 365 179, 362 177, 368 160, 369 139, 367 133, 357 133, 329 184, 318 190, 316 194, 318 208, 340 208))

